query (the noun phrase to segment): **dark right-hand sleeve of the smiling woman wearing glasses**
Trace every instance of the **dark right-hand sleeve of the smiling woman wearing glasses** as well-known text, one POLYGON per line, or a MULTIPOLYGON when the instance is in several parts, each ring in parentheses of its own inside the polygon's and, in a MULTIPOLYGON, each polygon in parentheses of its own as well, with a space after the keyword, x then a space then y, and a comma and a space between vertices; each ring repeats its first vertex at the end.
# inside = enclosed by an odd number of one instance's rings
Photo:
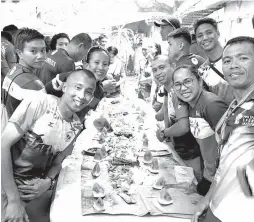
POLYGON ((213 130, 227 109, 228 105, 223 100, 210 102, 204 109, 204 118, 213 130))

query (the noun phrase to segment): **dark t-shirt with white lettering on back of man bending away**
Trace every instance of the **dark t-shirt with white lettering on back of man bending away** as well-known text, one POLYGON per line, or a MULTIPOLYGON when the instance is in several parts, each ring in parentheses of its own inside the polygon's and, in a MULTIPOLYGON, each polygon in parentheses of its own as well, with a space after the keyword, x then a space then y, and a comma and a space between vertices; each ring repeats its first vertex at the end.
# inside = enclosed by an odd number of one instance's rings
POLYGON ((64 49, 57 49, 47 55, 45 64, 40 71, 39 78, 43 84, 46 85, 54 79, 57 74, 73 70, 75 70, 75 63, 68 55, 67 51, 64 49))

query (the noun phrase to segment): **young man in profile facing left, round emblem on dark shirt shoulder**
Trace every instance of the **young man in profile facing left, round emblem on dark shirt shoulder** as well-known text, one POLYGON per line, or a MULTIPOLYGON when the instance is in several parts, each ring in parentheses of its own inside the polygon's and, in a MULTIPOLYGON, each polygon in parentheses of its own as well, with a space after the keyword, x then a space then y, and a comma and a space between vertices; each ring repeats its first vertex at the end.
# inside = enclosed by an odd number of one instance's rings
POLYGON ((205 59, 190 52, 191 34, 187 28, 179 28, 168 34, 168 55, 175 68, 180 65, 200 67, 205 59))

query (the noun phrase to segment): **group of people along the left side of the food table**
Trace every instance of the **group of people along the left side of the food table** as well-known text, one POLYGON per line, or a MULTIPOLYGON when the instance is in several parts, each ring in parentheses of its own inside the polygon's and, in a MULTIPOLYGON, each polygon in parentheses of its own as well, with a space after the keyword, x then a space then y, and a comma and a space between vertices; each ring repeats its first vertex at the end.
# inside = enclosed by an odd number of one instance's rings
POLYGON ((9 39, 3 32, 1 102, 8 114, 1 140, 3 221, 49 221, 61 163, 85 128, 88 111, 104 96, 119 95, 124 64, 116 47, 92 46, 86 33, 72 39, 57 34, 46 53, 37 30, 21 28, 9 39), (18 60, 10 63, 6 52, 18 60))

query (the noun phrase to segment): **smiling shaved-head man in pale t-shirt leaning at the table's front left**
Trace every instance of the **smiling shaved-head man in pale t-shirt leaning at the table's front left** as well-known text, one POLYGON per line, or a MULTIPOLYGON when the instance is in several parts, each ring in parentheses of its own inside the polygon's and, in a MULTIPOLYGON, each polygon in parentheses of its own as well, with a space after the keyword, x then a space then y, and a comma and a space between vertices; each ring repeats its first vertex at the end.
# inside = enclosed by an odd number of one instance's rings
POLYGON ((82 130, 77 112, 93 99, 96 79, 73 71, 61 98, 25 99, 2 132, 2 221, 49 221, 55 178, 82 130))

